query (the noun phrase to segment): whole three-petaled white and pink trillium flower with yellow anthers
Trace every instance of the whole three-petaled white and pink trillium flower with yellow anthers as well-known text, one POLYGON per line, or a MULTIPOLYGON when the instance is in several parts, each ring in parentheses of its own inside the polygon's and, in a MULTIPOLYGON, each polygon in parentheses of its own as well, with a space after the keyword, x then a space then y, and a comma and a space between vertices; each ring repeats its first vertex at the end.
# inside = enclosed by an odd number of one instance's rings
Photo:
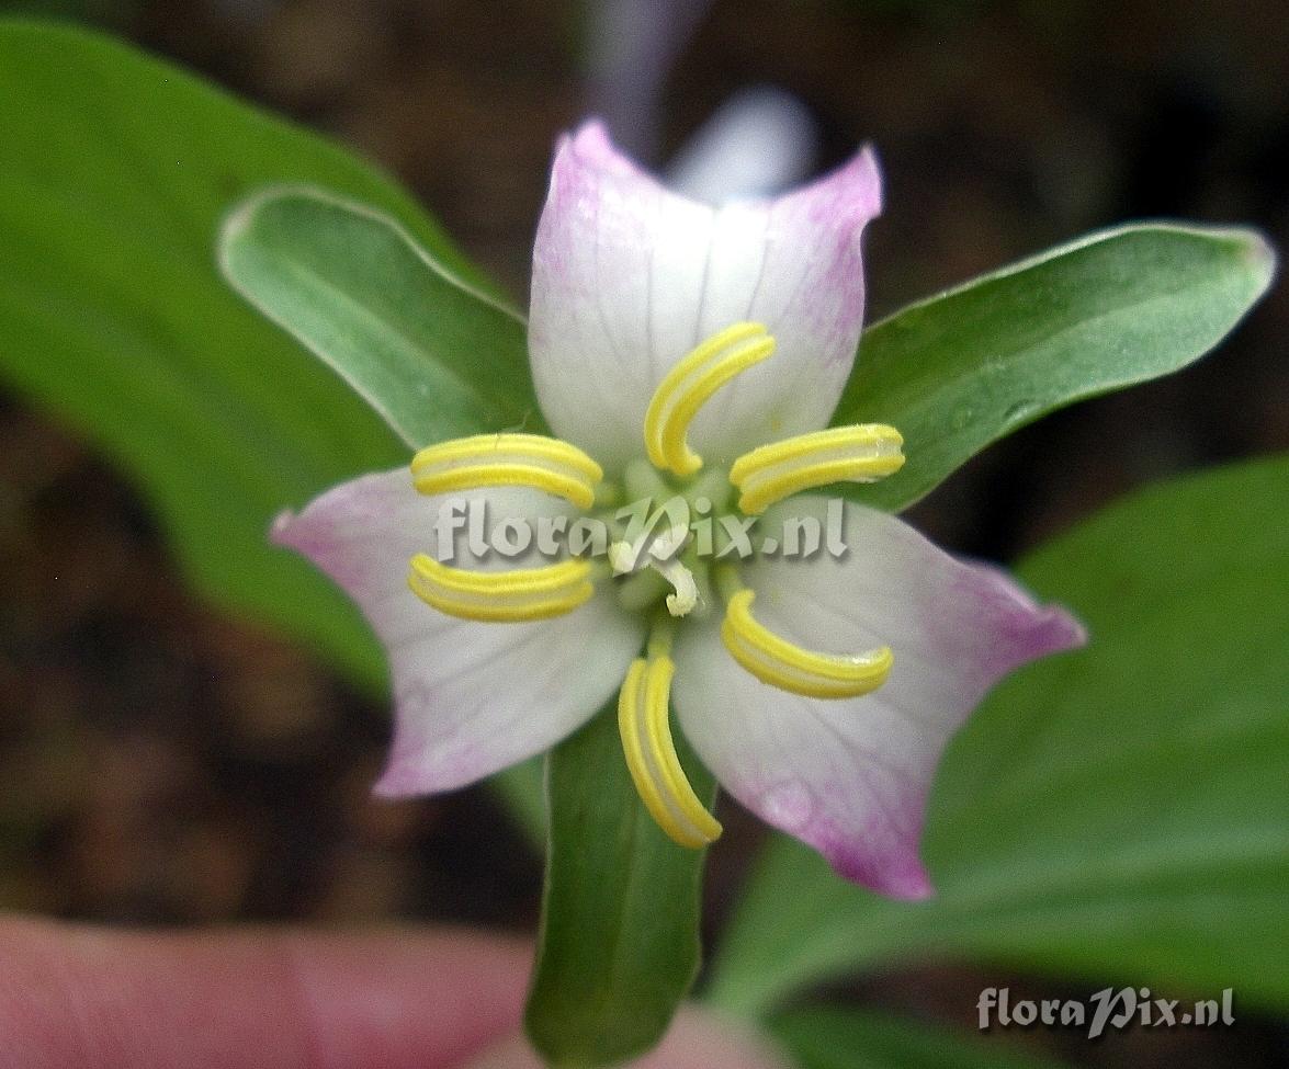
POLYGON ((1083 631, 1002 572, 819 492, 904 462, 893 428, 824 429, 855 361, 861 236, 879 210, 867 149, 786 196, 713 209, 597 124, 561 142, 528 319, 553 437, 433 444, 410 473, 345 483, 275 527, 389 653, 380 793, 473 783, 616 693, 624 760, 681 846, 721 826, 677 759, 673 711, 726 791, 842 876, 931 893, 918 845, 945 743, 1002 676, 1083 631), (568 538, 554 560, 487 556, 459 537, 463 498, 492 520, 601 522, 607 553, 568 538), (638 501, 681 519, 633 536, 621 507, 638 501), (708 546, 695 516, 717 532, 708 546), (839 527, 844 550, 735 551, 749 528, 782 550, 809 523, 839 527), (432 545, 436 532, 452 537, 432 545))

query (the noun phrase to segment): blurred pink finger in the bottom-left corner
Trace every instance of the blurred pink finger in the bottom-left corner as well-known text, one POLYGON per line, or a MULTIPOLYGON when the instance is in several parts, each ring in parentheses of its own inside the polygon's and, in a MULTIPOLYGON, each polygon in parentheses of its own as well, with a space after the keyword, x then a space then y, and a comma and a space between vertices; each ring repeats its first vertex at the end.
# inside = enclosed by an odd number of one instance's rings
POLYGON ((519 1026, 530 947, 468 931, 0 920, 0 1069, 454 1069, 519 1026))

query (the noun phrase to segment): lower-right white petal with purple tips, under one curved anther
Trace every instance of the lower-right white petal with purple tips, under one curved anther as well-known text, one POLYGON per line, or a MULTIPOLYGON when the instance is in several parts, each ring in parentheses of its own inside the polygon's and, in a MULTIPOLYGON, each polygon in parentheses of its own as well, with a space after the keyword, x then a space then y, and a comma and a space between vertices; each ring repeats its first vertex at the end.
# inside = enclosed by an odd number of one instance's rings
MULTIPOLYGON (((824 522, 821 498, 767 514, 824 522)), ((816 847, 849 880, 924 898, 918 855, 927 795, 950 735, 999 679, 1084 641, 1058 607, 1035 604, 1003 572, 955 560, 901 520, 849 505, 844 559, 758 559, 742 569, 753 613, 828 653, 889 645, 887 683, 862 698, 788 694, 744 671, 715 623, 686 632, 674 698, 686 735, 730 793, 816 847)))

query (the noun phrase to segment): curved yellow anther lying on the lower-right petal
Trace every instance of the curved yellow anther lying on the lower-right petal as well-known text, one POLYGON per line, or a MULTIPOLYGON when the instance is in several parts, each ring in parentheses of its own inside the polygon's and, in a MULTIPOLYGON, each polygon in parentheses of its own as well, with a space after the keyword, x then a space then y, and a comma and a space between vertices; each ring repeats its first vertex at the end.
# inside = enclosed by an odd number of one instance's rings
POLYGON ((721 638, 733 659, 762 683, 809 698, 857 698, 886 683, 893 659, 889 647, 855 657, 802 649, 753 618, 754 596, 740 590, 730 599, 721 638))

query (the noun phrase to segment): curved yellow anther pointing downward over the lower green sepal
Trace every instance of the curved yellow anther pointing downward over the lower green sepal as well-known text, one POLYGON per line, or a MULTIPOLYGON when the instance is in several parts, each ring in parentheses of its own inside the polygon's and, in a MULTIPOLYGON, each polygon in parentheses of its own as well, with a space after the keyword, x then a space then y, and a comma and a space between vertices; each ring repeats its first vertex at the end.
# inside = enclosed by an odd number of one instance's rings
POLYGON ((675 842, 696 850, 719 837, 721 824, 703 808, 675 756, 668 720, 674 672, 670 657, 633 661, 617 695, 617 729, 644 808, 675 842))

